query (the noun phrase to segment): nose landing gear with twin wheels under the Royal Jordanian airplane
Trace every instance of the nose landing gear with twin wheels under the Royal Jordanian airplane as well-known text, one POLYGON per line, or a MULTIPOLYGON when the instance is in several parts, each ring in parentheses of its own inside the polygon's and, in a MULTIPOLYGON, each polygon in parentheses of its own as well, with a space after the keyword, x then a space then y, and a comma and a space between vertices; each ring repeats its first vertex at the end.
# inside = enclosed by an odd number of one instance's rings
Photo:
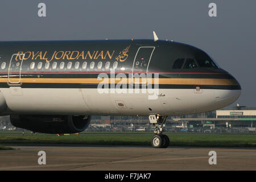
POLYGON ((170 144, 170 139, 163 134, 163 124, 166 122, 167 116, 150 115, 148 118, 150 123, 155 126, 155 135, 151 139, 151 145, 155 148, 167 148, 170 144))

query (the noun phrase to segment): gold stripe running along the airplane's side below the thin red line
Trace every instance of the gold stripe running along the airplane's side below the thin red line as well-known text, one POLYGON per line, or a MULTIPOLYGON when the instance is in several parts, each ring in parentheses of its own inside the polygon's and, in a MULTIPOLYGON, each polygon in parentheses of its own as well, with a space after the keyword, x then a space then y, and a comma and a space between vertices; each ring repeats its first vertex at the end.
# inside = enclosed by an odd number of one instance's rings
MULTIPOLYGON (((19 78, 10 78, 11 82, 18 82, 19 78)), ((121 80, 106 78, 98 80, 97 78, 21 78, 23 83, 54 83, 54 84, 126 84, 131 82, 131 78, 121 80)), ((239 85, 234 79, 216 79, 216 78, 159 78, 158 81, 147 79, 149 84, 166 84, 166 85, 239 85)), ((8 78, 0 78, 0 82, 9 82, 8 78)), ((134 79, 135 83, 146 83, 146 78, 134 79)))

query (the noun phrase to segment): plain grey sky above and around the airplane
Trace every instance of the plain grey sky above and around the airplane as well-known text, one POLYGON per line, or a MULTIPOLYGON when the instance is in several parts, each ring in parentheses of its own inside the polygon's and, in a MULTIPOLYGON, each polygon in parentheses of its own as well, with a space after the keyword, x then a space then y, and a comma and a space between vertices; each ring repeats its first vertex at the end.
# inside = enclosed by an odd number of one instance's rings
MULTIPOLYGON (((209 53, 256 106, 256 1, 108 0, 0 2, 0 40, 172 39, 209 53), (38 17, 38 3, 47 17, 38 17), (208 16, 210 2, 217 17, 208 16)), ((235 103, 236 104, 236 103, 235 103)), ((234 104, 233 104, 234 105, 234 104)))

